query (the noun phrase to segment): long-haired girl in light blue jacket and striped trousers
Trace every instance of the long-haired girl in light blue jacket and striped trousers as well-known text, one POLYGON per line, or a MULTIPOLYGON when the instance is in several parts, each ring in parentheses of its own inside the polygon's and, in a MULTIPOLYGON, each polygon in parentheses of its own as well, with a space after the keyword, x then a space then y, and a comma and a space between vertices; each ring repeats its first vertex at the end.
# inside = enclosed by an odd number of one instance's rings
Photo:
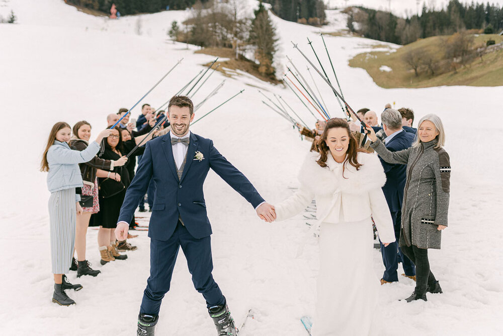
POLYGON ((47 187, 49 198, 49 222, 51 232, 51 262, 54 274, 54 294, 52 302, 63 306, 75 304, 68 298, 65 289, 79 290, 80 285, 72 285, 64 276, 68 271, 75 243, 76 213, 82 208, 78 201, 80 195, 75 188, 82 187, 79 163, 88 162, 100 150, 103 138, 108 137, 110 129, 100 132, 96 141, 83 151, 71 150, 68 146, 71 128, 66 122, 52 126, 49 140, 42 156, 40 170, 48 172, 47 187))

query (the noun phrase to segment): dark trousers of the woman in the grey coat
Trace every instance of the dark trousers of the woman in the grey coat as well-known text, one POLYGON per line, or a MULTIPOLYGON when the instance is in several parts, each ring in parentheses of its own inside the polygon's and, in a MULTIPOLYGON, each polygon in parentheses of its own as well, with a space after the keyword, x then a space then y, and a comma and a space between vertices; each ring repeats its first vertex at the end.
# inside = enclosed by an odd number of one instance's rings
POLYGON ((430 271, 430 261, 428 260, 428 249, 419 248, 415 245, 402 246, 402 252, 415 264, 415 289, 417 295, 426 293, 426 287, 435 288, 437 280, 430 271))

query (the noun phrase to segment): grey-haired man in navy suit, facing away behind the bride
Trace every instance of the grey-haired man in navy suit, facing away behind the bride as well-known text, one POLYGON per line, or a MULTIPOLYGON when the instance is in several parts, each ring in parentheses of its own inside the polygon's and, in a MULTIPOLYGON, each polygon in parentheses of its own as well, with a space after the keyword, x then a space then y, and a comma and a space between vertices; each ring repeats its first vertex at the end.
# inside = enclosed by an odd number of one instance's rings
MULTIPOLYGON (((402 117, 397 110, 388 108, 381 114, 383 130, 386 133, 384 143, 391 152, 397 152, 412 146, 414 135, 402 129, 402 117)), ((403 201, 403 189, 405 187, 407 165, 390 164, 381 159, 381 163, 386 173, 386 184, 382 187, 384 196, 388 203, 393 226, 395 229, 396 242, 384 247, 381 243, 382 261, 385 266, 381 285, 398 281, 398 254, 402 260, 403 276, 415 280, 415 266, 403 255, 398 247, 401 226, 401 207, 403 201)))

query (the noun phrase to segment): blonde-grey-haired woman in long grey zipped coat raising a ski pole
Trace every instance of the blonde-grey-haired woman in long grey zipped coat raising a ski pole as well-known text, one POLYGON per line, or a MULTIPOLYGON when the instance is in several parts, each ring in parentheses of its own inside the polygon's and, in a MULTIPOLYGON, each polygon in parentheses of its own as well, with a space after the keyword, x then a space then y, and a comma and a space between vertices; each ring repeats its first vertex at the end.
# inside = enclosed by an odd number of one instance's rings
POLYGON ((430 271, 428 249, 440 249, 449 209, 451 164, 443 149, 442 120, 435 114, 424 116, 412 147, 398 152, 387 150, 371 127, 367 131, 372 141, 370 146, 384 161, 407 165, 399 246, 415 264, 416 286, 406 301, 427 301, 426 292, 442 293, 430 271))

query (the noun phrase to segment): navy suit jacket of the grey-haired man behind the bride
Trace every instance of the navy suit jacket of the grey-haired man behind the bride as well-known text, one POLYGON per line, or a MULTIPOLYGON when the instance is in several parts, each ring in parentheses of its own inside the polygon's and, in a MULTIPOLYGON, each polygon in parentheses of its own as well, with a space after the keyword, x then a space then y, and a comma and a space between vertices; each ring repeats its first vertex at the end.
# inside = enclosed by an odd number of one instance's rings
MULTIPOLYGON (((390 152, 398 152, 412 146, 413 141, 414 135, 412 133, 402 131, 386 144, 386 148, 390 152)), ((400 211, 403 202, 407 165, 387 163, 381 157, 379 159, 386 173, 386 184, 382 187, 382 191, 384 197, 386 197, 389 211, 400 211)))

